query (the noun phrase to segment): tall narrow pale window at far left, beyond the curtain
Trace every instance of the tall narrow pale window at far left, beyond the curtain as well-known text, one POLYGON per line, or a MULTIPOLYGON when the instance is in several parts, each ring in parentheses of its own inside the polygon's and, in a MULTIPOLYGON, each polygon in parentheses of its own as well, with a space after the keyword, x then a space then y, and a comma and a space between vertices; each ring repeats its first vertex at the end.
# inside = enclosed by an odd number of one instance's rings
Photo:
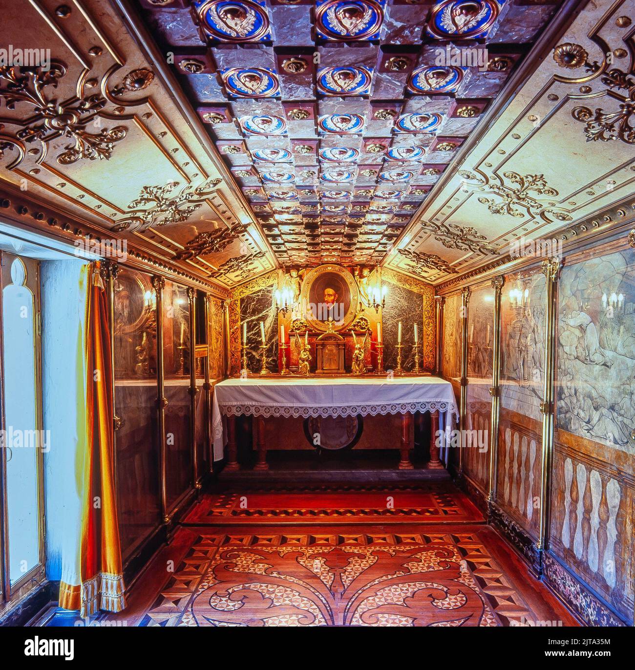
POLYGON ((0 259, 1 590, 6 604, 36 586, 44 571, 42 454, 49 441, 42 430, 38 261, 4 252, 0 259))

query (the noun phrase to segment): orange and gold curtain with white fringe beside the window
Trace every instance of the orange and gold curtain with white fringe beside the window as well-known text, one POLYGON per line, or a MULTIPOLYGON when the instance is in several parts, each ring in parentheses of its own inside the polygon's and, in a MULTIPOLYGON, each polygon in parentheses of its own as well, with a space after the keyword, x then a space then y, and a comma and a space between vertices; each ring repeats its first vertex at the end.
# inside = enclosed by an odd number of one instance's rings
POLYGON ((113 368, 109 299, 90 265, 86 304, 86 440, 82 476, 80 584, 60 585, 60 607, 90 616, 125 608, 113 470, 113 368))

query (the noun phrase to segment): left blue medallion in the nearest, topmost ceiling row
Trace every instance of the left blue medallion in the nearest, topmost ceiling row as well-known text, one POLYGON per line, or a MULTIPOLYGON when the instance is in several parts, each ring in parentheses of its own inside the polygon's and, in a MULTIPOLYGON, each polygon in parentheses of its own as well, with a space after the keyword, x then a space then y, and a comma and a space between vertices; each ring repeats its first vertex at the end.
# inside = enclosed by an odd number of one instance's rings
POLYGON ((200 23, 212 38, 224 42, 266 42, 271 40, 269 17, 259 0, 204 0, 195 2, 200 23))

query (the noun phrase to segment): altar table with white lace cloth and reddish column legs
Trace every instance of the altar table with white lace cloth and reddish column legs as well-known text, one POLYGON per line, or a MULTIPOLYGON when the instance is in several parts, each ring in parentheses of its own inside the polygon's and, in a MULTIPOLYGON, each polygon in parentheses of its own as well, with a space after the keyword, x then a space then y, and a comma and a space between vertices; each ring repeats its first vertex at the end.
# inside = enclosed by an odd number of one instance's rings
POLYGON ((214 460, 227 458, 226 470, 238 470, 235 417, 255 417, 256 470, 267 470, 265 417, 347 417, 401 415, 399 468, 413 468, 409 458, 411 423, 415 413, 431 416, 428 468, 443 468, 439 458, 439 421, 451 427, 458 417, 454 392, 439 377, 246 377, 226 379, 215 385, 212 401, 214 460))

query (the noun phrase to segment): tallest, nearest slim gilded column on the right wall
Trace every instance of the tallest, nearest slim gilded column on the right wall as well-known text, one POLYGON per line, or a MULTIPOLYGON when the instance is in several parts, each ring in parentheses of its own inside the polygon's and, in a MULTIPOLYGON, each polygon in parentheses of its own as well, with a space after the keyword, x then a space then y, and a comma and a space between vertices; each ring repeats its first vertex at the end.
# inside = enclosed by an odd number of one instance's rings
POLYGON ((545 549, 549 527, 549 480, 551 478, 551 454, 553 453, 553 410, 555 385, 555 330, 557 316, 557 284, 561 261, 550 258, 543 261, 541 270, 547 277, 546 332, 545 332, 545 380, 543 383, 543 401, 540 405, 543 415, 543 462, 540 482, 540 525, 538 530, 538 549, 545 549))

